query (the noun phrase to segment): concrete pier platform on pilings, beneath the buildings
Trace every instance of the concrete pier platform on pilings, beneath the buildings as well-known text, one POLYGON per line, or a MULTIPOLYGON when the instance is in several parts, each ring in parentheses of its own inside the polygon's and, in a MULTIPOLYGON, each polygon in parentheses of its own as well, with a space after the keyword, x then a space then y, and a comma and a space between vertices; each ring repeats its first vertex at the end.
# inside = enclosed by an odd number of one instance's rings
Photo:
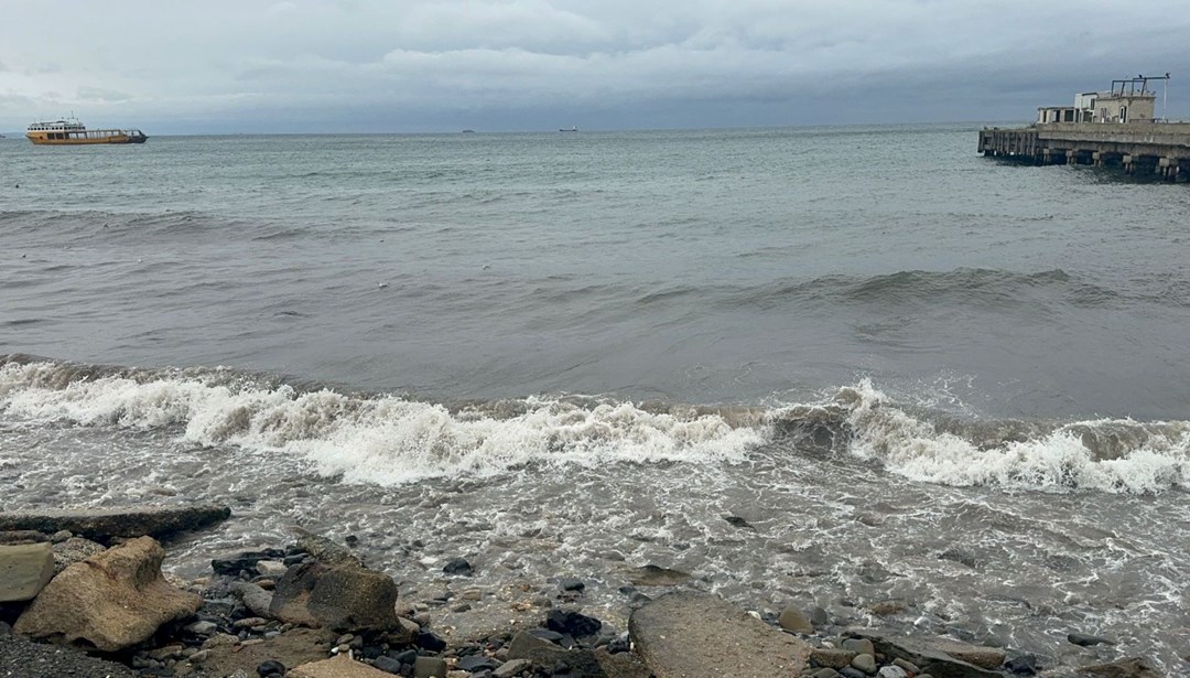
POLYGON ((1032 164, 1120 167, 1125 174, 1190 179, 1190 123, 1047 123, 979 130, 979 153, 1032 164))

